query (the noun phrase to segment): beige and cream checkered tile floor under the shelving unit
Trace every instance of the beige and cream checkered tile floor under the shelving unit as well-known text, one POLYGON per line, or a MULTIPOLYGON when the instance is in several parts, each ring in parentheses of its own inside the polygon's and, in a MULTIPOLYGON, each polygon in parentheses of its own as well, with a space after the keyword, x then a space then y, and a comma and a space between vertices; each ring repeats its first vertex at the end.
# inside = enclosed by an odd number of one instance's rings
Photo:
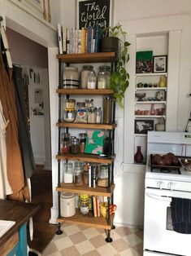
POLYGON ((63 224, 63 234, 55 235, 42 256, 141 256, 143 232, 116 227, 111 230, 112 243, 106 243, 102 229, 63 224))

